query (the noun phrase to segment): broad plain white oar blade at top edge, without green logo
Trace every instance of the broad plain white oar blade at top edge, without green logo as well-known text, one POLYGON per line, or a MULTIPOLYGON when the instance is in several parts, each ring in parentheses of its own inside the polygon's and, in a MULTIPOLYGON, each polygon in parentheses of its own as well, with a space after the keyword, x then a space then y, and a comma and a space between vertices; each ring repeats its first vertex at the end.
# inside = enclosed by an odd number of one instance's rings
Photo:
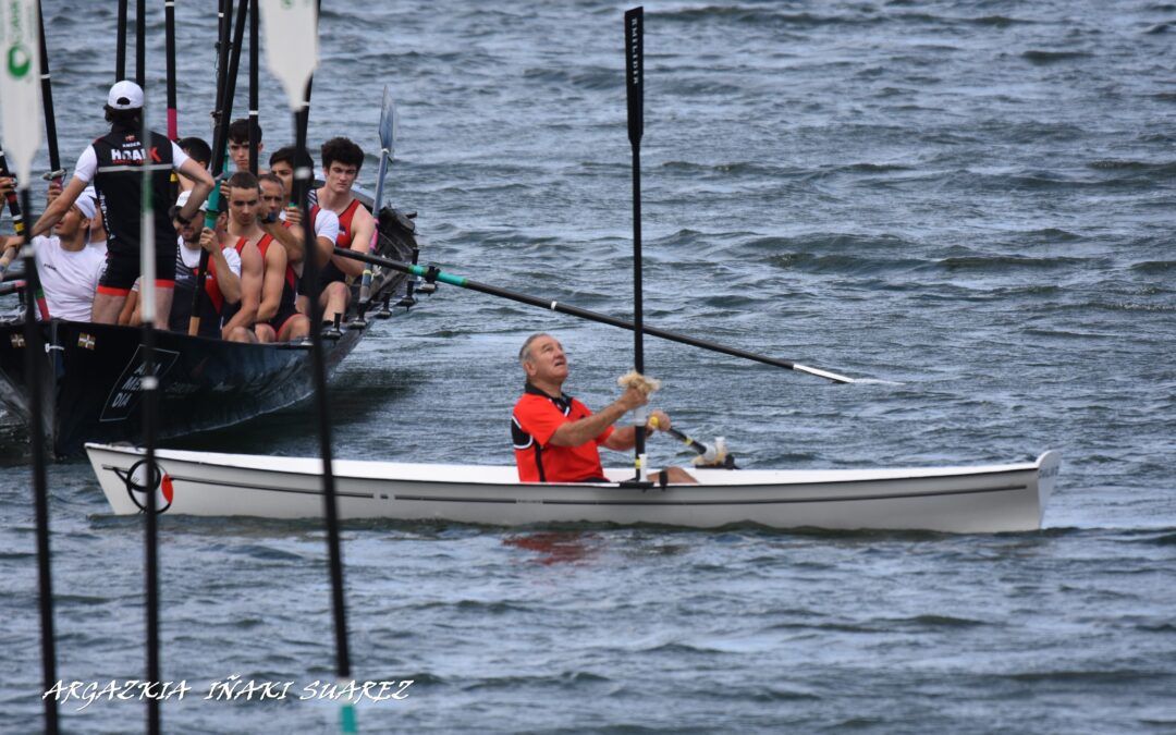
POLYGON ((315 0, 261 0, 266 61, 282 82, 290 109, 302 109, 306 83, 319 66, 319 8, 315 0))

